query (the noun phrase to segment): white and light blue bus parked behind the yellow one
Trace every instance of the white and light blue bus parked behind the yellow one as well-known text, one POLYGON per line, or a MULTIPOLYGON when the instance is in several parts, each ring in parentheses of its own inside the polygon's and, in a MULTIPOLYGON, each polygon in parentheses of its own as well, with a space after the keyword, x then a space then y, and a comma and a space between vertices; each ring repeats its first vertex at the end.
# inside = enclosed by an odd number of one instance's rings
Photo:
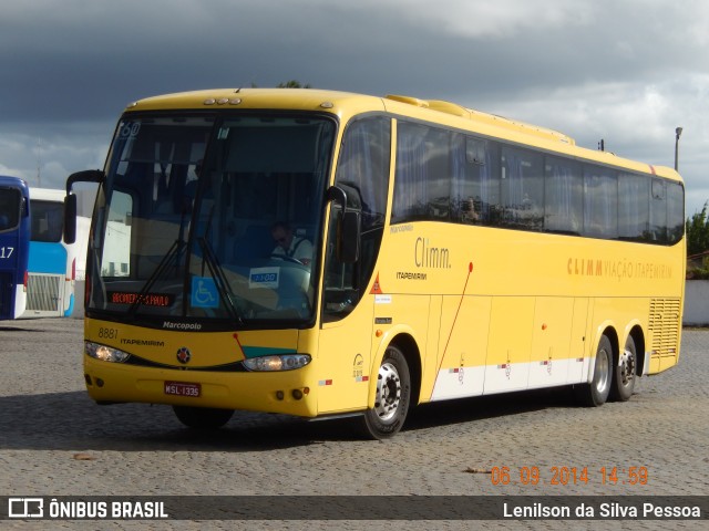
POLYGON ((66 244, 64 192, 30 190, 31 235, 27 309, 21 317, 66 317, 74 310, 76 244, 66 244))

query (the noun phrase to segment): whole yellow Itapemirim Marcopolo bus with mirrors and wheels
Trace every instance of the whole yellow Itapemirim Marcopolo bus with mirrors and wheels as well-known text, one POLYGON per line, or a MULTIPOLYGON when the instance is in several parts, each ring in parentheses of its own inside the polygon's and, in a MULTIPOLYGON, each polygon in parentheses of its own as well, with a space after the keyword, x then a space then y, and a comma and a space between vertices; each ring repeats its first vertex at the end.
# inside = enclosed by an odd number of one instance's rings
MULTIPOLYGON (((213 90, 123 113, 86 261, 99 404, 359 415, 573 386, 627 400, 678 361, 684 185, 672 169, 459 105, 213 90)), ((73 227, 68 223, 68 237, 73 227)))

